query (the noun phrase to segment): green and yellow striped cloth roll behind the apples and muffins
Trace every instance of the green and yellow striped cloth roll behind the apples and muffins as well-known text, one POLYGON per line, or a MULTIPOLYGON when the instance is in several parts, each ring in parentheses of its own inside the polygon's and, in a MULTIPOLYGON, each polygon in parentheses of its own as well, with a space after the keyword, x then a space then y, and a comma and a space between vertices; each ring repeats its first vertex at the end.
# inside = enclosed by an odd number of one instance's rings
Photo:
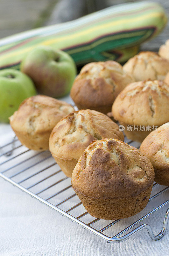
POLYGON ((37 28, 0 40, 0 69, 19 68, 37 45, 69 53, 77 65, 90 61, 124 62, 139 45, 156 36, 167 21, 161 5, 152 2, 112 6, 80 19, 37 28))

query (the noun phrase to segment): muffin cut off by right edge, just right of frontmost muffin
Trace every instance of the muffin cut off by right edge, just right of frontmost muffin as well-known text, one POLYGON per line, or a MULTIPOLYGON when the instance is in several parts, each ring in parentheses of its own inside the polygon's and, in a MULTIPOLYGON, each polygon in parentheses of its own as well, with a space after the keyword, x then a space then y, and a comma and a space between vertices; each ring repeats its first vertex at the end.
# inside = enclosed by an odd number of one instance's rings
POLYGON ((169 186, 169 123, 151 132, 142 142, 140 151, 153 165, 155 181, 169 186))

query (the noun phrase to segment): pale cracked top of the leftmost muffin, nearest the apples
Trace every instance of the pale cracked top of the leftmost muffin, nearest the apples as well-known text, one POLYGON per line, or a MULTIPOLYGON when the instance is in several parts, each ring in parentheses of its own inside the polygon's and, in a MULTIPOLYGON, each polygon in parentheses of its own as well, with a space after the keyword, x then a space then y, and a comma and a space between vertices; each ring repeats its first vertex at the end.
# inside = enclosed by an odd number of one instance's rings
POLYGON ((25 133, 43 133, 51 131, 63 116, 74 111, 64 101, 45 95, 36 95, 24 100, 18 111, 10 117, 12 129, 25 133))

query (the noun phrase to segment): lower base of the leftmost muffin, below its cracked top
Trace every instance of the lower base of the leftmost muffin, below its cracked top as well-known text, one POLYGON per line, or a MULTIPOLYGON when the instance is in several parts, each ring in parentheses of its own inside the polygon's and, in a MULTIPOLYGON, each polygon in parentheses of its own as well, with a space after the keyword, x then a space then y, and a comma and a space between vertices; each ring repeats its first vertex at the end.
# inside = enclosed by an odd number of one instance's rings
POLYGON ((51 131, 43 132, 39 134, 32 134, 32 133, 23 133, 18 132, 13 129, 18 140, 24 145, 25 147, 36 150, 36 151, 44 151, 49 149, 49 137, 51 131))

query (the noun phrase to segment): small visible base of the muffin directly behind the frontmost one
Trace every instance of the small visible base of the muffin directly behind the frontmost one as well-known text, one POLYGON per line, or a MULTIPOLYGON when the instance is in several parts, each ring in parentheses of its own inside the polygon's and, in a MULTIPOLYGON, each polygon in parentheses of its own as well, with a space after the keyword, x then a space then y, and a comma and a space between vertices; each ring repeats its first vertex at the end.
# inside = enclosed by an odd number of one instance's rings
POLYGON ((62 172, 64 172, 67 177, 71 178, 72 172, 78 162, 78 159, 65 160, 56 156, 53 156, 53 158, 56 161, 56 163, 60 166, 62 172))

